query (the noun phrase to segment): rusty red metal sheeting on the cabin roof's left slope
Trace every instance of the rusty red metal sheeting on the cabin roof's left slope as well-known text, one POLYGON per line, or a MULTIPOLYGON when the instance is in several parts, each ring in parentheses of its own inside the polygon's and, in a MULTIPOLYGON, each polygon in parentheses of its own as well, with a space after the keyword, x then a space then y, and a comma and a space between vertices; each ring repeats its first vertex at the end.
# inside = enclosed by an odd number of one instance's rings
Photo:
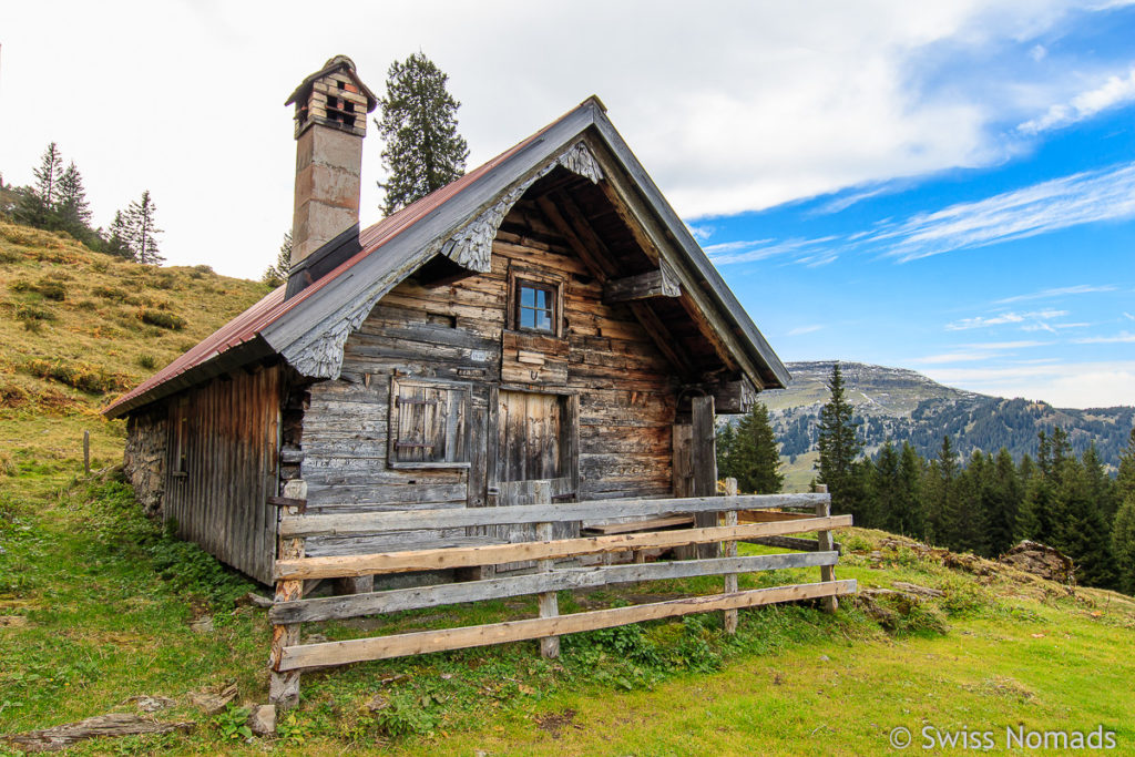
POLYGON ((257 302, 257 304, 252 305, 228 323, 217 329, 213 334, 205 337, 195 347, 188 350, 174 360, 174 362, 169 363, 160 371, 148 378, 145 381, 115 399, 115 402, 102 411, 103 414, 109 418, 117 418, 118 415, 121 415, 134 407, 141 406, 151 399, 157 399, 165 395, 165 393, 157 392, 160 387, 162 387, 162 385, 216 360, 220 355, 226 354, 241 345, 255 340, 266 327, 276 322, 285 313, 297 308, 301 303, 314 295, 321 288, 334 281, 345 271, 350 270, 359 261, 375 254, 390 239, 413 227, 413 225, 422 218, 426 218, 451 199, 476 184, 481 176, 496 168, 498 165, 508 159, 508 157, 522 150, 532 141, 537 140, 541 134, 550 129, 573 111, 574 109, 531 135, 523 142, 520 142, 505 152, 502 152, 496 158, 493 158, 488 162, 465 174, 461 178, 451 182, 444 187, 426 195, 421 200, 406 205, 402 210, 398 210, 377 224, 363 229, 359 234, 359 243, 362 250, 355 253, 352 258, 344 261, 319 280, 313 281, 289 300, 284 298, 284 293, 287 288, 286 286, 280 286, 269 293, 262 300, 257 302), (154 396, 145 397, 145 395, 150 394, 153 394, 154 396))

